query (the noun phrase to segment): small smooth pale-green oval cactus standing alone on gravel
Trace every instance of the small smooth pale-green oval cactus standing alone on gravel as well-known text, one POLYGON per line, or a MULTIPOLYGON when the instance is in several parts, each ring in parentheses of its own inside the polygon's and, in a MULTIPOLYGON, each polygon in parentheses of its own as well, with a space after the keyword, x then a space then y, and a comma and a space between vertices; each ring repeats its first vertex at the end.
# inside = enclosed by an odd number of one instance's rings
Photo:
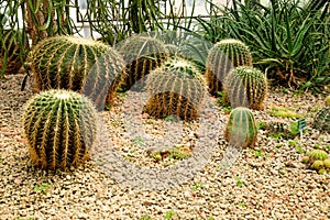
POLYGON ((226 141, 246 148, 254 145, 256 136, 257 128, 251 110, 245 107, 234 108, 224 130, 226 141))

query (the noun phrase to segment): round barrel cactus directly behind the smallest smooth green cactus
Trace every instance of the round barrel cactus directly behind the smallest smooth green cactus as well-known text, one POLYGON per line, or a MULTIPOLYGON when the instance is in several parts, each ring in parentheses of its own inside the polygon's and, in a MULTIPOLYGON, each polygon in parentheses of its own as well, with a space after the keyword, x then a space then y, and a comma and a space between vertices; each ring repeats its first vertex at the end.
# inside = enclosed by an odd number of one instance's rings
POLYGON ((256 68, 239 66, 232 69, 224 80, 224 90, 230 105, 262 110, 267 95, 267 79, 256 68))

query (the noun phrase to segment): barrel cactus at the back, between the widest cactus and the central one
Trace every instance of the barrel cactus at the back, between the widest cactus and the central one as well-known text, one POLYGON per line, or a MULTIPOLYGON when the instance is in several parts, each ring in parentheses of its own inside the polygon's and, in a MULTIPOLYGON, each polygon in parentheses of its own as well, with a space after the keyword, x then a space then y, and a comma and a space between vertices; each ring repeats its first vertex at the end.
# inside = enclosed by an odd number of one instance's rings
POLYGON ((168 57, 163 42, 143 35, 129 37, 119 46, 119 52, 127 62, 125 89, 130 89, 151 70, 161 66, 168 57))

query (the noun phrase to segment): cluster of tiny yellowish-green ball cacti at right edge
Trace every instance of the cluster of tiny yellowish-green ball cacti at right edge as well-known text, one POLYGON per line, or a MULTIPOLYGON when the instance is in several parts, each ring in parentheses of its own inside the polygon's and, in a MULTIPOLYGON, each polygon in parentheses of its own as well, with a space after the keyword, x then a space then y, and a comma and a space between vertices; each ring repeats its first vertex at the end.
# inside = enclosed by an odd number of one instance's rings
POLYGON ((305 163, 308 168, 315 169, 319 174, 330 172, 330 160, 328 158, 327 152, 323 150, 314 150, 307 152, 301 162, 305 163))

